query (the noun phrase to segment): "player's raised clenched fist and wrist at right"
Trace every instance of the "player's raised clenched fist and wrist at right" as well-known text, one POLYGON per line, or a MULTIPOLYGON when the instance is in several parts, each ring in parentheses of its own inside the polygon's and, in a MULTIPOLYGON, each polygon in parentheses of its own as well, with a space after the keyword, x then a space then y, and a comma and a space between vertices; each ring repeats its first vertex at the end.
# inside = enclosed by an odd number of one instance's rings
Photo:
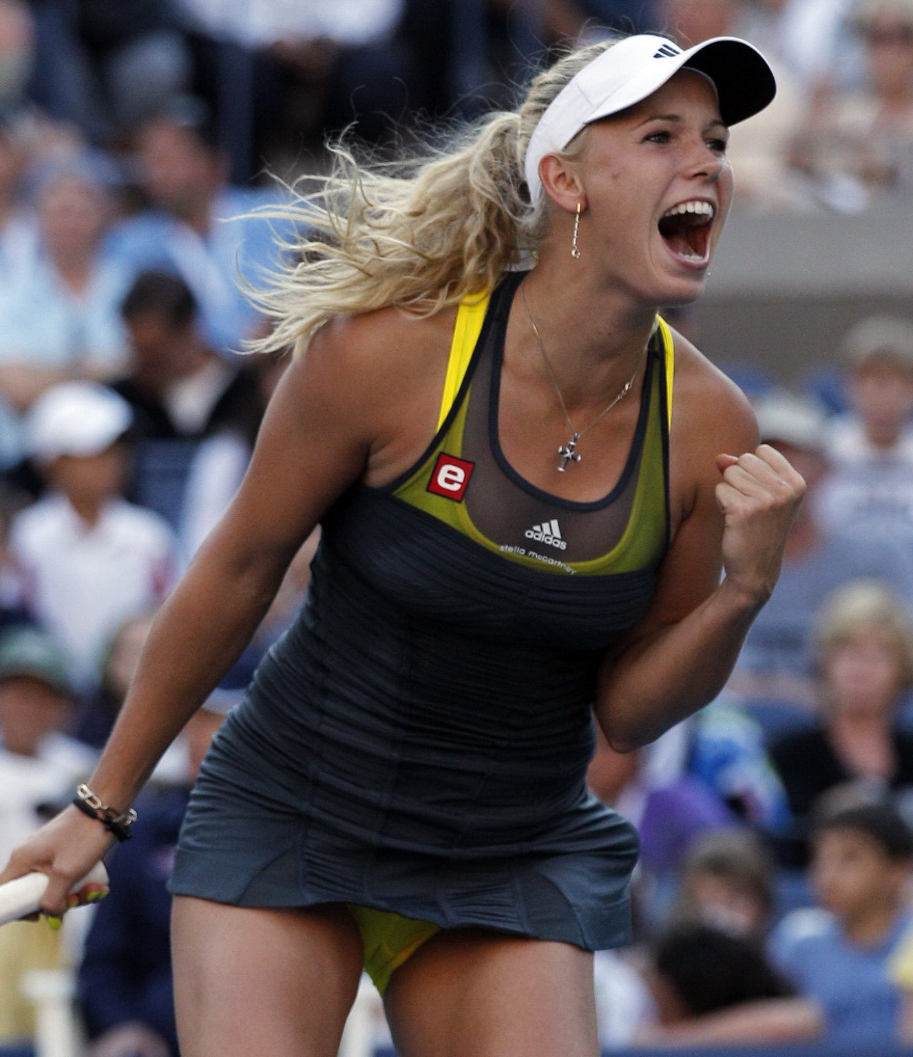
POLYGON ((733 587, 765 601, 780 575, 805 481, 769 444, 737 458, 717 456, 716 465, 723 475, 716 486, 725 518, 723 568, 733 587))

